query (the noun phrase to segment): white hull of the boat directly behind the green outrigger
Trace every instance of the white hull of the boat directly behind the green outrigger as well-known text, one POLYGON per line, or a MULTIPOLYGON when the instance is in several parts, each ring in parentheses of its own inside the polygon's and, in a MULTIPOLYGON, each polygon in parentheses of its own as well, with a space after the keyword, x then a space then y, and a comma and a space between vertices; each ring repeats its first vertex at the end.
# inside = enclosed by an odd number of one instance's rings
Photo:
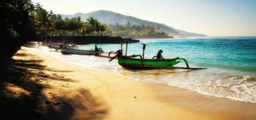
POLYGON ((60 49, 62 53, 83 54, 83 55, 102 54, 104 52, 101 48, 98 48, 98 51, 95 51, 94 49, 91 49, 91 50, 68 49, 68 48, 60 48, 60 49))

